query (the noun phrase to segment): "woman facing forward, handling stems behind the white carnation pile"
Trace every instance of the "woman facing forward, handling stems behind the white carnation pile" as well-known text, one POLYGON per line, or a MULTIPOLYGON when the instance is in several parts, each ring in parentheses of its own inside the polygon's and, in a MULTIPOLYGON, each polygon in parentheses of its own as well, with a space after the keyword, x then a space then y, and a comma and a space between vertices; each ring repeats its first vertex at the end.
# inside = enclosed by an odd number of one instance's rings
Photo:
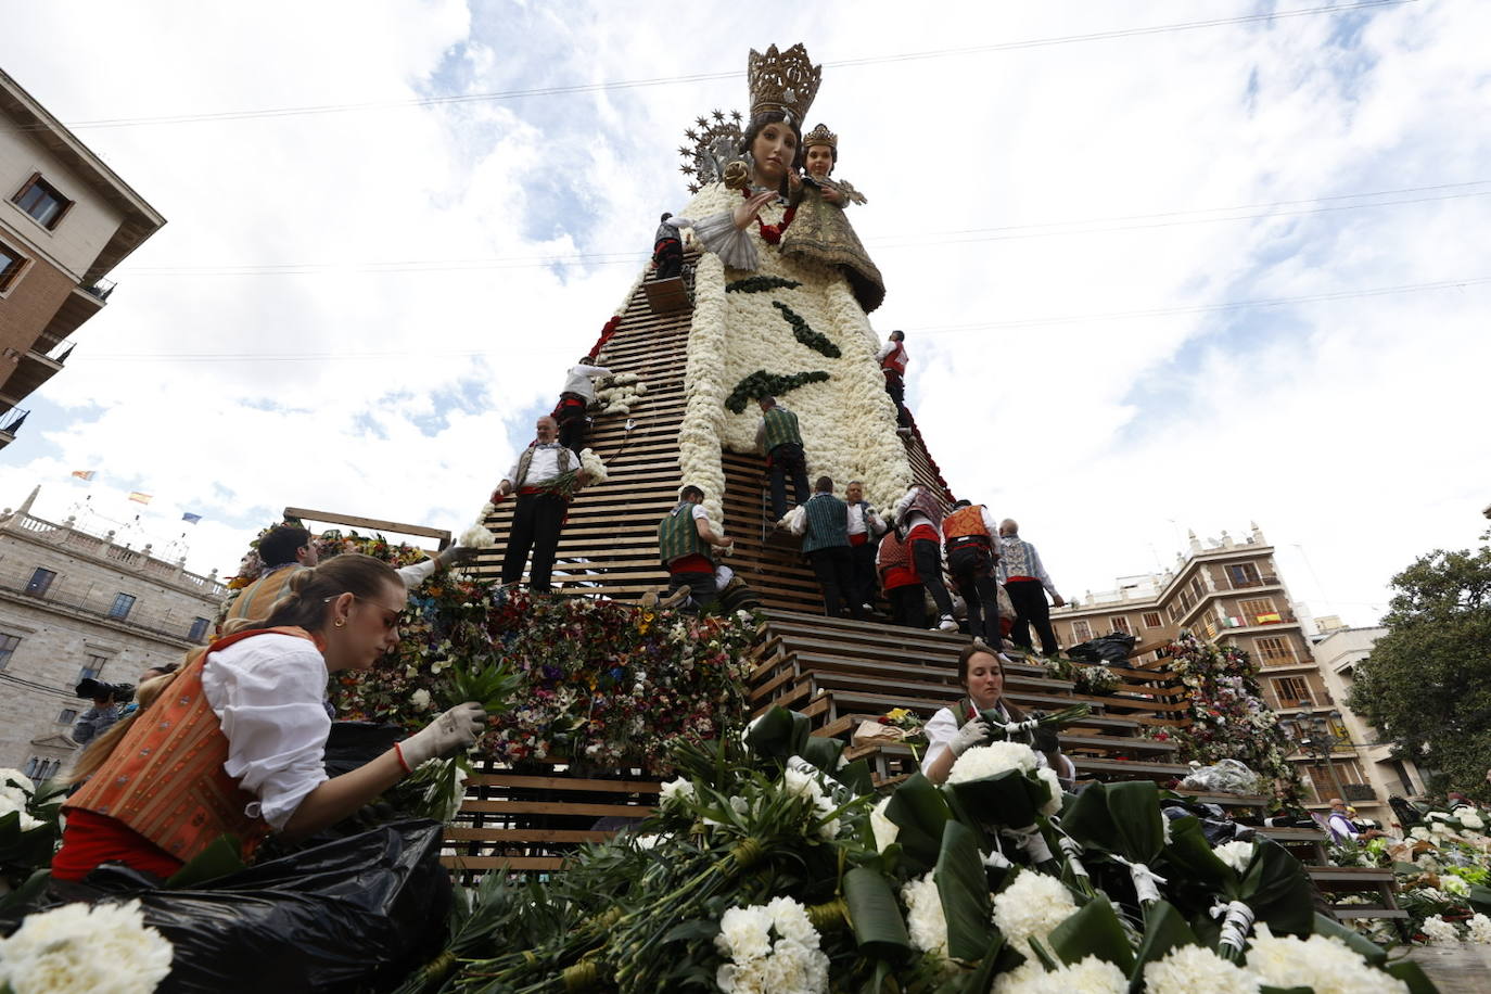
MULTIPOLYGON (((1024 711, 1005 700, 1003 663, 983 645, 968 645, 957 654, 957 683, 963 686, 968 696, 951 708, 942 708, 933 714, 923 727, 927 736, 927 751, 921 757, 921 772, 933 784, 947 781, 959 756, 975 745, 986 745, 992 741, 993 729, 980 712, 994 711, 1005 724, 1029 720, 1024 711)), ((1072 787, 1077 767, 1062 753, 1054 730, 1017 732, 1011 738, 1035 748, 1036 760, 1042 766, 1054 769, 1063 787, 1072 787)))

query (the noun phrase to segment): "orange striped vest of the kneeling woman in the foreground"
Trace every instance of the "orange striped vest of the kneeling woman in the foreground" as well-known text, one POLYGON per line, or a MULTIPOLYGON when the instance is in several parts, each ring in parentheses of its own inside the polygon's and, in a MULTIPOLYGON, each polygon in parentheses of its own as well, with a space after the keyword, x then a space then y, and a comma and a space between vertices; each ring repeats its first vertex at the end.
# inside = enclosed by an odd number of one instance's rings
POLYGON ((134 718, 63 811, 79 808, 113 818, 182 863, 222 835, 237 839, 245 860, 252 857, 270 826, 245 814, 258 797, 222 769, 228 738, 203 693, 201 669, 209 653, 265 632, 310 638, 298 627, 255 629, 188 653, 176 680, 134 718))

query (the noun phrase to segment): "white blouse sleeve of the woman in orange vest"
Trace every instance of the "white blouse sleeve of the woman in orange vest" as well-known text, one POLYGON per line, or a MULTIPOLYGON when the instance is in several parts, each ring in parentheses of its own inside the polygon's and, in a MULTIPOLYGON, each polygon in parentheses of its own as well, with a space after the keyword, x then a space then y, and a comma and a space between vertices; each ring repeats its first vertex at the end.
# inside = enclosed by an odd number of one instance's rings
POLYGON ((245 808, 282 830, 327 778, 327 660, 310 639, 255 635, 207 656, 201 688, 228 738, 228 776, 256 796, 245 808))

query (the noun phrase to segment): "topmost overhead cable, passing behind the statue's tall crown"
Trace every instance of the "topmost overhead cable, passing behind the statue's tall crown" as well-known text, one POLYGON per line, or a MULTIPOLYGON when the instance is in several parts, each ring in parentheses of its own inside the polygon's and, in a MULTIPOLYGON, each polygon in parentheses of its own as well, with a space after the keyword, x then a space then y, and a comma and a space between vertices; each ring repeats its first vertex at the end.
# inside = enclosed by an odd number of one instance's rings
MULTIPOLYGON (((869 55, 862 58, 844 58, 836 61, 825 61, 825 69, 841 69, 854 66, 880 66, 887 63, 907 63, 930 58, 951 58, 960 55, 981 55, 989 52, 1009 52, 1017 49, 1032 49, 1032 48, 1051 48, 1056 45, 1077 45, 1085 42, 1106 42, 1124 37, 1144 37, 1153 34, 1169 34, 1178 31, 1197 31, 1203 28, 1214 27, 1232 27, 1243 24, 1260 24, 1270 21, 1282 21, 1285 18, 1300 18, 1312 16, 1317 13, 1348 13, 1351 10, 1369 10, 1378 7, 1393 7, 1402 6, 1405 3, 1415 3, 1416 0, 1358 0, 1357 3, 1343 4, 1327 4, 1315 7, 1299 7, 1294 10, 1275 10, 1270 13, 1248 13, 1233 18, 1208 18, 1205 21, 1179 21, 1172 24, 1156 24, 1138 28, 1115 28, 1112 31, 1090 31, 1085 34, 1062 34, 1054 37, 1041 39, 1026 39, 1020 42, 996 42, 990 45, 971 45, 963 48, 944 48, 926 52, 901 52, 896 55, 869 55)), ((249 121, 258 118, 294 118, 307 115, 325 115, 325 113, 344 113, 356 110, 397 110, 407 107, 438 107, 446 104, 464 104, 464 103, 479 103, 479 101, 495 101, 495 100, 519 100, 523 97, 555 97, 568 94, 587 94, 587 92, 604 92, 613 89, 638 89, 644 86, 665 86, 677 83, 696 83, 710 82, 717 79, 740 79, 746 73, 729 72, 729 73, 690 73, 684 76, 655 76, 647 79, 626 79, 602 83, 573 83, 562 86, 531 86, 523 89, 504 89, 492 91, 483 94, 453 94, 446 97, 414 97, 409 100, 383 100, 383 101, 365 101, 365 103, 337 103, 337 104, 309 104, 309 106, 289 106, 289 107, 264 107, 259 110, 221 110, 212 113, 180 113, 180 115, 155 115, 155 116, 136 116, 136 118, 97 118, 92 121, 75 121, 67 127, 72 130, 83 128, 130 128, 152 124, 195 124, 204 121, 249 121)), ((45 131, 49 130, 46 125, 24 125, 19 128, 12 128, 12 131, 45 131)))

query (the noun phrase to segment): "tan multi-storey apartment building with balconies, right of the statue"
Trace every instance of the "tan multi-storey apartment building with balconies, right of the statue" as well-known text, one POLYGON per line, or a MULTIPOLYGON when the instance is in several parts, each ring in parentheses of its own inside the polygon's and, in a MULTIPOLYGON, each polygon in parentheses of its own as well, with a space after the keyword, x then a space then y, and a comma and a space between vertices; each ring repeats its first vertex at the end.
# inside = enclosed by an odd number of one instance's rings
POLYGON ((1117 590, 1088 592, 1051 611, 1063 645, 1123 632, 1138 639, 1133 659, 1139 665, 1154 665, 1157 650, 1182 630, 1245 650, 1260 666, 1264 703, 1279 712, 1299 744, 1290 759, 1306 784, 1308 802, 1324 806, 1345 794, 1363 815, 1388 820, 1387 796, 1402 791, 1364 756, 1363 744, 1375 739, 1360 733, 1339 684, 1333 688, 1327 680, 1306 620, 1255 523, 1245 538, 1223 532, 1202 542, 1190 532, 1188 551, 1176 556, 1173 569, 1120 577, 1117 590))

